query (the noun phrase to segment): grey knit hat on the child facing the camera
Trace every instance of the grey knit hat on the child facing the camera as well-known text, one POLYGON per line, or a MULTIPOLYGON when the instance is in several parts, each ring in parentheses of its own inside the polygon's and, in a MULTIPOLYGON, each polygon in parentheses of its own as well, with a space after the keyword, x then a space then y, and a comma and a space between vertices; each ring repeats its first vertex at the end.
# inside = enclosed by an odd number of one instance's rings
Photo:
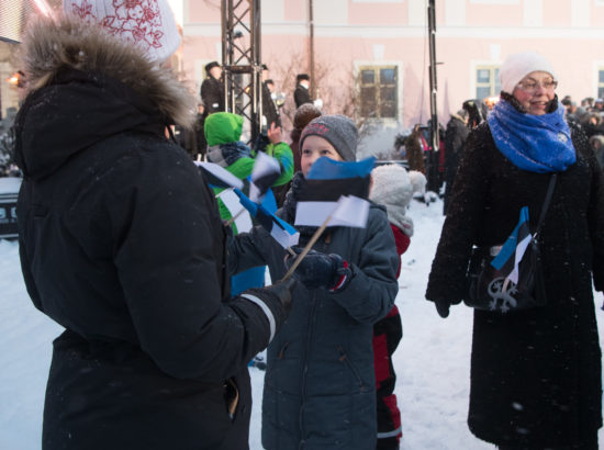
POLYGON ((300 149, 302 149, 304 139, 309 136, 320 136, 326 139, 345 161, 355 161, 357 159, 357 127, 345 115, 322 115, 313 119, 304 127, 300 136, 300 149))

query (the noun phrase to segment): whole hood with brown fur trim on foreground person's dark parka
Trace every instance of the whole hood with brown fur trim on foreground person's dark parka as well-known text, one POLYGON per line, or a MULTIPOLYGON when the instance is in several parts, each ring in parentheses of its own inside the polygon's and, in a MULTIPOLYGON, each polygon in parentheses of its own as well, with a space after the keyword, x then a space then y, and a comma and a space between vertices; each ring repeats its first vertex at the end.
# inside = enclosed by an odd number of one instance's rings
POLYGON ((15 157, 34 179, 111 136, 164 136, 166 125, 194 117, 194 98, 170 69, 74 18, 32 23, 21 60, 29 94, 15 120, 15 157))

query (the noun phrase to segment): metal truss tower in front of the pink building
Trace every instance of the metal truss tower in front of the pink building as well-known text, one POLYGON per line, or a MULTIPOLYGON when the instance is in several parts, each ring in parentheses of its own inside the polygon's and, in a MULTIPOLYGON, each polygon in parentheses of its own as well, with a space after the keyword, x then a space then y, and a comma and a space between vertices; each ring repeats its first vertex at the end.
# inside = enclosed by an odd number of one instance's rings
POLYGON ((251 142, 262 126, 260 42, 260 0, 222 0, 224 104, 247 121, 251 142))

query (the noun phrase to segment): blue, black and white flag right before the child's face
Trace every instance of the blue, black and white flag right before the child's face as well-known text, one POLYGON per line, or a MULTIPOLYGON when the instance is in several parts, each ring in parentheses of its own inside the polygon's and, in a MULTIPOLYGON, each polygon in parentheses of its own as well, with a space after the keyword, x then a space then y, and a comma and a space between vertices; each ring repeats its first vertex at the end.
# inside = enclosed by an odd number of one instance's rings
POLYGON ((298 199, 294 225, 363 228, 369 215, 369 184, 374 158, 358 162, 318 158, 298 199))

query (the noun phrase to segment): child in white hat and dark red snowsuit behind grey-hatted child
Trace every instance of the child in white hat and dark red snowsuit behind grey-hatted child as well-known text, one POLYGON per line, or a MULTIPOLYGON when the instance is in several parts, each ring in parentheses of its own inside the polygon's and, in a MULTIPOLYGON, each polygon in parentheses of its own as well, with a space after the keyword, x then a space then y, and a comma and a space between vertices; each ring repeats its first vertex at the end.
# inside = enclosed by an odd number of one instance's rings
MULTIPOLYGON (((413 198, 413 185, 407 171, 398 165, 387 165, 371 171, 371 191, 369 199, 385 206, 388 221, 394 235, 399 268, 401 274, 401 255, 411 244, 413 220, 406 209, 413 198)), ((403 324, 396 305, 388 315, 373 325, 373 370, 376 372, 377 414, 378 414, 378 450, 398 450, 403 436, 401 412, 396 405, 394 386, 396 374, 392 364, 392 355, 403 337, 403 324)))

